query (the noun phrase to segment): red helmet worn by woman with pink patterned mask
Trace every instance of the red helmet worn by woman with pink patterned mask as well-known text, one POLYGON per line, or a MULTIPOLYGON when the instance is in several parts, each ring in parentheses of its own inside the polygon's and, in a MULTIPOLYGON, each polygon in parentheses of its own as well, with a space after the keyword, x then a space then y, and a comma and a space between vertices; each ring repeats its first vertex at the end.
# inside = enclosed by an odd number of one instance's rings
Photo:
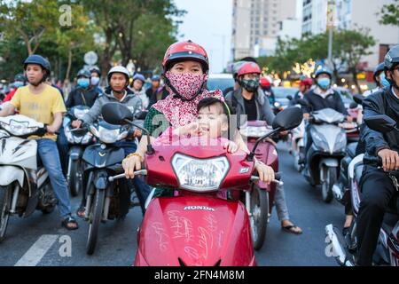
POLYGON ((167 71, 173 63, 184 60, 194 60, 200 62, 204 73, 209 70, 209 59, 207 51, 200 44, 192 41, 173 43, 169 46, 162 61, 164 71, 167 71))

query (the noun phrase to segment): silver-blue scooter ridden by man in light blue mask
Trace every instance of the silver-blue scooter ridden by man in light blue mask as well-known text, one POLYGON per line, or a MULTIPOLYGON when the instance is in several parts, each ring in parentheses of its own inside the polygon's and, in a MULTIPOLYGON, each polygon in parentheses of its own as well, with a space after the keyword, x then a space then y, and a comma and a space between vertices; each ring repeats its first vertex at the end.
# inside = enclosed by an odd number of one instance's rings
POLYGON ((310 185, 322 185, 323 201, 332 201, 332 185, 338 179, 340 160, 345 156, 346 131, 340 123, 345 115, 332 108, 314 111, 309 117, 309 135, 312 138, 302 171, 310 185))

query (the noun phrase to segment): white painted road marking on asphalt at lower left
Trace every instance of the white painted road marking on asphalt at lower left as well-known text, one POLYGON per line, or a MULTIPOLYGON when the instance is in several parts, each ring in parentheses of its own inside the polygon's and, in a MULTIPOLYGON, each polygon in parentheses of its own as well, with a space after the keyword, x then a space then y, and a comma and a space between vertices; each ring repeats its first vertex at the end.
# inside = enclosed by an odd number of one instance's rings
POLYGON ((58 238, 58 234, 43 234, 14 266, 36 266, 58 238))

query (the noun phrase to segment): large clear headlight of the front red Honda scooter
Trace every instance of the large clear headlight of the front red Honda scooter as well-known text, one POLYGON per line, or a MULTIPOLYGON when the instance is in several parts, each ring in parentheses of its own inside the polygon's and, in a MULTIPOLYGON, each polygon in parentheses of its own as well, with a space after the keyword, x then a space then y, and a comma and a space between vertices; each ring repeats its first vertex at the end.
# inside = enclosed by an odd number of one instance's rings
POLYGON ((181 188, 207 193, 219 189, 230 164, 226 157, 195 159, 176 154, 172 159, 172 167, 181 188))

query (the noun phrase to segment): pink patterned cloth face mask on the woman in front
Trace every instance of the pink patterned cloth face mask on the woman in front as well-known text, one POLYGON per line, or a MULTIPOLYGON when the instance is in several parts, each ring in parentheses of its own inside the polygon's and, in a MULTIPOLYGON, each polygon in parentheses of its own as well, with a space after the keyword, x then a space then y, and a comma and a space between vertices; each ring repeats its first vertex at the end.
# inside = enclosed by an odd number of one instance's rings
POLYGON ((194 99, 199 93, 202 84, 207 81, 207 75, 193 75, 191 73, 174 74, 168 71, 165 76, 169 83, 184 99, 194 99))

